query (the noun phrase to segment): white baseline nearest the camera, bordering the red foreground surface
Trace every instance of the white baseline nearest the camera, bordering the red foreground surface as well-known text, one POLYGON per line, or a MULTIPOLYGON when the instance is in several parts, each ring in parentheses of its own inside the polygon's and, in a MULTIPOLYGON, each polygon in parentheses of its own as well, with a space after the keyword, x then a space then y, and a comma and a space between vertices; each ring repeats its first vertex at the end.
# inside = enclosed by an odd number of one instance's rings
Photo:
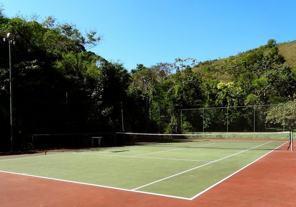
POLYGON ((72 182, 72 183, 83 184, 83 185, 92 185, 92 186, 97 186, 97 187, 102 187, 102 188, 112 188, 112 189, 116 189, 116 190, 125 190, 125 191, 136 192, 136 193, 145 193, 145 194, 150 194, 150 195, 160 195, 160 196, 165 196, 165 197, 170 197, 170 198, 181 198, 181 199, 185 199, 185 200, 191 200, 190 198, 184 198, 184 197, 173 196, 173 195, 165 195, 165 194, 159 194, 159 193, 149 193, 149 192, 138 191, 138 190, 129 190, 129 189, 125 189, 125 188, 115 188, 115 187, 110 187, 110 186, 105 186, 105 185, 96 185, 96 184, 85 183, 85 182, 76 182, 76 181, 71 181, 71 180, 61 180, 61 179, 51 178, 51 177, 42 177, 42 176, 37 176, 37 175, 27 175, 27 174, 21 174, 21 173, 16 173, 16 172, 7 172, 7 171, 2 171, 2 170, 0 170, 0 172, 11 173, 11 174, 16 174, 16 175, 25 175, 25 176, 30 176, 30 177, 39 177, 39 178, 45 178, 45 179, 49 179, 49 180, 72 182))

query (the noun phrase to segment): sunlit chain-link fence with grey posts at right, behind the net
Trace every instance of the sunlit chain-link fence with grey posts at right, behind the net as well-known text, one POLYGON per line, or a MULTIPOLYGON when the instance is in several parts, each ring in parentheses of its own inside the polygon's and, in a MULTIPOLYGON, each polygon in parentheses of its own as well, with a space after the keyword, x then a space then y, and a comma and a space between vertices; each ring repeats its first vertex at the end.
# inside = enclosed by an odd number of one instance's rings
POLYGON ((183 109, 182 133, 293 131, 296 104, 183 109))

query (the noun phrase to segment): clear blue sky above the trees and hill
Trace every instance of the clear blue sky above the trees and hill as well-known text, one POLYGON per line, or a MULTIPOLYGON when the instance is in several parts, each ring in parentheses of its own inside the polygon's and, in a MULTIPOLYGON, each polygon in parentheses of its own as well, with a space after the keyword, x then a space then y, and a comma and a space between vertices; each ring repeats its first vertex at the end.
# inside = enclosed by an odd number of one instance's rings
POLYGON ((296 1, 33 1, 2 0, 8 17, 36 13, 93 29, 103 36, 91 49, 131 70, 175 58, 206 61, 296 39, 296 1))

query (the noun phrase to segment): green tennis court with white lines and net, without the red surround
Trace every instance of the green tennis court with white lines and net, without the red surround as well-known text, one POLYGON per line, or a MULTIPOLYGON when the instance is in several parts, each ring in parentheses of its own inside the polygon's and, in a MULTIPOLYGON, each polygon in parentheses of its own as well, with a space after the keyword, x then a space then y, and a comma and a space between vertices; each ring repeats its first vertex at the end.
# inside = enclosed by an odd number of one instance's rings
POLYGON ((292 140, 289 132, 170 137, 118 133, 120 146, 2 156, 0 170, 192 200, 273 150, 287 151, 292 140))

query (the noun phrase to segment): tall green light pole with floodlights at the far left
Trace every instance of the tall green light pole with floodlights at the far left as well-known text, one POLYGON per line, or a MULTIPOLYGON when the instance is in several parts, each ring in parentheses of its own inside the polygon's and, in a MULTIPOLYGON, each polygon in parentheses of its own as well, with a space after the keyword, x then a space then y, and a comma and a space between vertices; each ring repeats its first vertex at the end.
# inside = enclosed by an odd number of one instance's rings
POLYGON ((1 31, 0 36, 3 40, 8 40, 9 45, 9 83, 10 83, 10 140, 11 140, 11 152, 13 152, 13 94, 12 94, 12 58, 11 58, 11 44, 15 44, 15 41, 21 41, 20 36, 15 36, 9 32, 1 31))

